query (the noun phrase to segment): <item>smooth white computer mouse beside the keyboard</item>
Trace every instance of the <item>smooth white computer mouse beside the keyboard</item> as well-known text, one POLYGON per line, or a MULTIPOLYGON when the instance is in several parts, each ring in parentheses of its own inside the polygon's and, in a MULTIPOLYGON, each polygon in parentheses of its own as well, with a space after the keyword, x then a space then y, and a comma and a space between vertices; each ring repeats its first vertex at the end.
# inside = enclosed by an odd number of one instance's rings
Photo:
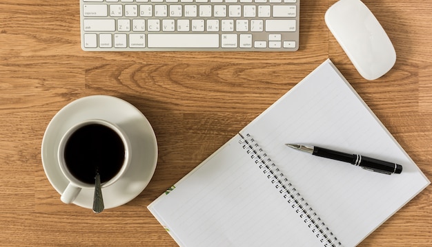
POLYGON ((357 71, 367 80, 393 67, 396 52, 381 24, 360 0, 340 0, 328 8, 326 25, 357 71))

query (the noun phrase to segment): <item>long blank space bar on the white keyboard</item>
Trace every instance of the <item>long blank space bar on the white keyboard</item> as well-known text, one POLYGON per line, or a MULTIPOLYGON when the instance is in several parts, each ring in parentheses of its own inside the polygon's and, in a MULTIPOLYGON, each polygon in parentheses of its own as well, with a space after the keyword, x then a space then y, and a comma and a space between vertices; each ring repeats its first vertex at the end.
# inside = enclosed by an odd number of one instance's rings
POLYGON ((148 34, 149 48, 217 48, 219 34, 148 34))

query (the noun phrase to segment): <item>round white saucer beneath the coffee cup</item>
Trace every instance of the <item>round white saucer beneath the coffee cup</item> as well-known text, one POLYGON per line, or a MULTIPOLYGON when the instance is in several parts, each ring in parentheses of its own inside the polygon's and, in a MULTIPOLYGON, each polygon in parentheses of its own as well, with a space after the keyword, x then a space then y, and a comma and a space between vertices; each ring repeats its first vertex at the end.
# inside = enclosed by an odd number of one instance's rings
MULTIPOLYGON (((68 180, 61 173, 57 163, 60 139, 72 125, 95 118, 114 122, 121 127, 130 139, 132 147, 131 164, 124 176, 102 189, 105 208, 114 208, 126 204, 146 188, 155 173, 157 162, 156 136, 150 122, 139 109, 125 100, 112 96, 88 96, 63 107, 52 118, 43 135, 43 169, 52 186, 62 194, 68 180)), ((73 203, 84 208, 92 208, 94 191, 82 189, 73 203)))

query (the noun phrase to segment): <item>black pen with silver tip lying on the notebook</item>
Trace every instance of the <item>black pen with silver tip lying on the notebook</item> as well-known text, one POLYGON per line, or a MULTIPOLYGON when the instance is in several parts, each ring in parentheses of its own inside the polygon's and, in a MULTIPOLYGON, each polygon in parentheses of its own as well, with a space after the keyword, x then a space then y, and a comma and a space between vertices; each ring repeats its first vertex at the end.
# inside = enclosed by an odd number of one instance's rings
POLYGON ((391 173, 402 173, 402 166, 400 164, 386 162, 384 160, 377 160, 362 156, 360 154, 342 153, 339 151, 324 149, 322 147, 306 146, 300 144, 286 144, 286 146, 320 157, 348 162, 369 171, 376 171, 378 173, 385 173, 389 175, 391 175, 391 173))

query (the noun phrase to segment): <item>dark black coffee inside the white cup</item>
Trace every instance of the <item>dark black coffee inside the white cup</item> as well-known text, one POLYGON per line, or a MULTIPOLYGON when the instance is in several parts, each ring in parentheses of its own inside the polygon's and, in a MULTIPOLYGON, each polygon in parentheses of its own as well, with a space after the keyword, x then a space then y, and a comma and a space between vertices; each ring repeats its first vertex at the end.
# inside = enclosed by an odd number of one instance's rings
POLYGON ((95 184, 96 171, 101 183, 120 171, 125 158, 120 136, 104 125, 91 124, 77 129, 66 142, 66 167, 72 175, 87 184, 95 184))

